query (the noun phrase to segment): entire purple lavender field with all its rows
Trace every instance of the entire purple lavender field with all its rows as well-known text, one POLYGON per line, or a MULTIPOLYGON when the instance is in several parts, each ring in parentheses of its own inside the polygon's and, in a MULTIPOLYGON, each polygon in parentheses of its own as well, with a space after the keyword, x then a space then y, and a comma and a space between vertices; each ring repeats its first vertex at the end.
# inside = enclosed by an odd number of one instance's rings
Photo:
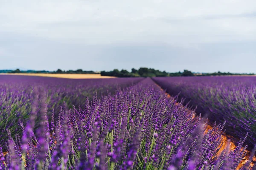
POLYGON ((1 75, 0 169, 254 168, 253 78, 153 80, 1 75), (241 138, 235 148, 221 149, 224 132, 241 138))

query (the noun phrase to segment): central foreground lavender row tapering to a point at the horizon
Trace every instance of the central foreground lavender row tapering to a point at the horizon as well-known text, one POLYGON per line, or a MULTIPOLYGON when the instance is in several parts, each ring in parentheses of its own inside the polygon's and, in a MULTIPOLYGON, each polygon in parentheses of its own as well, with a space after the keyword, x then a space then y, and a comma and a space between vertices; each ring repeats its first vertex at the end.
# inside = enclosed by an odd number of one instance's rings
POLYGON ((45 96, 39 88, 30 121, 20 124, 23 135, 9 134, 8 154, 0 153, 3 170, 233 170, 245 153, 244 139, 217 156, 224 125, 204 133, 207 123, 193 122, 195 113, 176 105, 149 78, 115 95, 87 99, 84 108, 64 104, 51 121, 45 96), (40 126, 33 131, 37 116, 40 126))

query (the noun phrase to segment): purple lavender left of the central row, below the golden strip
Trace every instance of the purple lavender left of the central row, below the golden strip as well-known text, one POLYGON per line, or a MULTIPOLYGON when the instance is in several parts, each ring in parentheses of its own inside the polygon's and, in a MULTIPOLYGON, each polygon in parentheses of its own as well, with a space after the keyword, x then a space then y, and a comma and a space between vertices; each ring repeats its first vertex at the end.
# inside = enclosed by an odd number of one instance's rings
MULTIPOLYGON (((68 107, 83 105, 87 97, 92 99, 96 92, 98 96, 114 93, 116 85, 124 88, 142 79, 59 79, 0 75, 0 144, 6 142, 6 129, 9 129, 11 134, 21 132, 18 127, 19 120, 26 124, 29 119, 34 94, 38 88, 43 89, 45 93, 47 112, 50 115, 52 109, 59 111, 64 101, 68 107)), ((37 108, 37 111, 39 110, 40 107, 37 108)))

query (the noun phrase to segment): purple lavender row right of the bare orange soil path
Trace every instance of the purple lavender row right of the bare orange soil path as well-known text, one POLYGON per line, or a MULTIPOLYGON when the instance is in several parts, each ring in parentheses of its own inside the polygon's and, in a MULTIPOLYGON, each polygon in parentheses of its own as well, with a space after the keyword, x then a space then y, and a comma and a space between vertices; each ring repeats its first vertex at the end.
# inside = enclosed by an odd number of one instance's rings
POLYGON ((256 143, 256 77, 159 77, 154 81, 171 95, 180 93, 210 121, 227 121, 227 134, 239 139, 248 132, 250 147, 256 143))

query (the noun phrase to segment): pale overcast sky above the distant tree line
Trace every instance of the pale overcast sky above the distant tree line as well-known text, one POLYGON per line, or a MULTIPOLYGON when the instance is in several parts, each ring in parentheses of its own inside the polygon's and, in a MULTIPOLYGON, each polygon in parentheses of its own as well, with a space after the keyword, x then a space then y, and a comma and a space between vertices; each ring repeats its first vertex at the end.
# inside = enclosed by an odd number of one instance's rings
POLYGON ((256 0, 0 0, 0 69, 256 73, 256 0))

